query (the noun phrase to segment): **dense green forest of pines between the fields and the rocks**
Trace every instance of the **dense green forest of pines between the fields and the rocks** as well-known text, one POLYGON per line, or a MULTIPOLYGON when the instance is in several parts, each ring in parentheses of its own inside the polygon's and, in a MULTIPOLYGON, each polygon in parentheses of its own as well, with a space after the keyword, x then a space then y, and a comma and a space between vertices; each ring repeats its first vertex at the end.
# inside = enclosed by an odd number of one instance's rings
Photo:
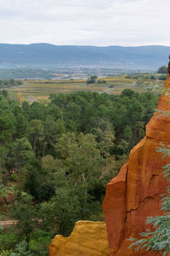
POLYGON ((144 137, 157 100, 151 91, 79 91, 20 106, 2 90, 1 219, 18 222, 0 229, 0 255, 47 255, 77 220, 102 220, 106 183, 144 137))

